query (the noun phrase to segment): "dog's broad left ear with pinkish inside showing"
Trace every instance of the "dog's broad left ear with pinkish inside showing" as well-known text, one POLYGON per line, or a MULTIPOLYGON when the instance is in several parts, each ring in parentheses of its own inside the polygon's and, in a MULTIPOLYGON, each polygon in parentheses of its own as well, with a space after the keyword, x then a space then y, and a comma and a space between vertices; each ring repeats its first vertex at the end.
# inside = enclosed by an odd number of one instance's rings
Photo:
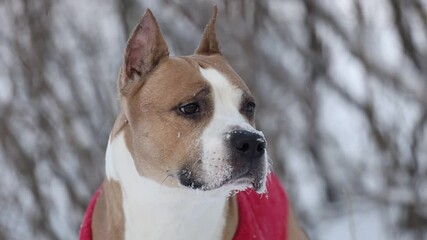
POLYGON ((126 46, 124 68, 118 83, 120 92, 126 95, 139 89, 147 74, 167 56, 168 46, 153 13, 147 9, 126 46))

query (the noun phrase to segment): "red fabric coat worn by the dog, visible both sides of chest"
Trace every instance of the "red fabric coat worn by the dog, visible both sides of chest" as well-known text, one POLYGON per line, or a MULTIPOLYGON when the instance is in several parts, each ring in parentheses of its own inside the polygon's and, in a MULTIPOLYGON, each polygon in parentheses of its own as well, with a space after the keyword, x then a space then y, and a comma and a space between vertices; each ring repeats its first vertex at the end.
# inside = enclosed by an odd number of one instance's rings
MULTIPOLYGON (((92 215, 101 187, 86 210, 80 240, 92 240, 92 215)), ((286 193, 274 174, 267 177, 267 194, 259 195, 249 189, 237 194, 237 202, 239 224, 233 240, 286 240, 289 204, 286 193)))

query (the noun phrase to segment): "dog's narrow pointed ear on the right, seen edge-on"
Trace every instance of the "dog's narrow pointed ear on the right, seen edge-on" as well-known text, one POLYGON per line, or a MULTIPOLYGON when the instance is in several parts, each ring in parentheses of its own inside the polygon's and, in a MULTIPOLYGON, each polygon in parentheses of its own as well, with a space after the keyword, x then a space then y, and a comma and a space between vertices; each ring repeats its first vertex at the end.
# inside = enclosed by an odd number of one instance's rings
POLYGON ((213 7, 212 17, 206 25, 205 31, 203 32, 202 40, 200 41, 199 47, 194 53, 200 55, 221 54, 215 33, 215 22, 217 12, 218 8, 215 5, 213 7))

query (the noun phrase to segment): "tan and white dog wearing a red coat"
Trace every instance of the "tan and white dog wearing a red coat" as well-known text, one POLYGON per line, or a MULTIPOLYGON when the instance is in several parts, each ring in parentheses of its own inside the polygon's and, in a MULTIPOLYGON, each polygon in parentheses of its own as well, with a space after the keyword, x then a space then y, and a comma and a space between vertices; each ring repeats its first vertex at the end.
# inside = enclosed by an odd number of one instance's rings
POLYGON ((169 56, 147 10, 128 40, 106 178, 81 240, 306 239, 269 172, 255 99, 221 54, 217 8, 194 55, 169 56))

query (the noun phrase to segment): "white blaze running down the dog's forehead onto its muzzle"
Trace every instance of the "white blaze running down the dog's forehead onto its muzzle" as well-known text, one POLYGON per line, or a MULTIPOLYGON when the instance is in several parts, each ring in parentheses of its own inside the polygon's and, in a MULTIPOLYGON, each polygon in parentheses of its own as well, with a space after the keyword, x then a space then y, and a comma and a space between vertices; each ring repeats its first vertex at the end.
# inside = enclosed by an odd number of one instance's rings
POLYGON ((227 177, 230 177, 232 172, 227 161, 229 158, 225 145, 227 133, 233 128, 262 133, 255 130, 239 111, 243 96, 240 88, 233 86, 223 74, 215 69, 200 68, 200 72, 212 87, 214 101, 213 118, 201 136, 202 166, 208 187, 217 187, 227 177))

